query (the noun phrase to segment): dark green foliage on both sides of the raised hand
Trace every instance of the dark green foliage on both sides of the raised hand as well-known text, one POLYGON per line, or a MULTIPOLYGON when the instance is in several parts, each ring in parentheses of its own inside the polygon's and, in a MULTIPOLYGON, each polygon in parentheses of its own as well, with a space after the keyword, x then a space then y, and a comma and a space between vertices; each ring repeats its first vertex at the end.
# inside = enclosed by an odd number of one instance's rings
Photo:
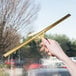
MULTIPOLYGON (((66 35, 45 35, 45 38, 54 39, 59 42, 62 49, 68 56, 76 56, 76 40, 70 40, 66 35)), ((27 41, 24 39, 23 41, 27 41)), ((20 50, 21 59, 24 58, 42 58, 43 55, 39 52, 40 40, 31 41, 27 46, 24 46, 20 50)), ((47 56, 43 53, 44 56, 47 56)))

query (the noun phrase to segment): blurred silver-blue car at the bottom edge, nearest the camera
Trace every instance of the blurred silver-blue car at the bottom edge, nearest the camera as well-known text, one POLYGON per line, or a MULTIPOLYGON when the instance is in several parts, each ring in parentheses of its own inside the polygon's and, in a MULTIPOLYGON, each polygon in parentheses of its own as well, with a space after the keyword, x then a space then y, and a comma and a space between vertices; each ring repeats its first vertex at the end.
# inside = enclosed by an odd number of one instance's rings
POLYGON ((26 76, 71 76, 65 68, 38 68, 27 71, 26 76))

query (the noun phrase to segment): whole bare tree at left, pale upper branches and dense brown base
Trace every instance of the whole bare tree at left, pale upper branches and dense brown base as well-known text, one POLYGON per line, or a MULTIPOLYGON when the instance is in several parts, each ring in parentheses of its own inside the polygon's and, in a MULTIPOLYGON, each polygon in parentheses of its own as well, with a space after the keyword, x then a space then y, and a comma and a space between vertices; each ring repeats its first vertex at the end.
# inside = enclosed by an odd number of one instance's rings
POLYGON ((31 29, 39 11, 35 0, 0 0, 0 51, 8 51, 31 29))

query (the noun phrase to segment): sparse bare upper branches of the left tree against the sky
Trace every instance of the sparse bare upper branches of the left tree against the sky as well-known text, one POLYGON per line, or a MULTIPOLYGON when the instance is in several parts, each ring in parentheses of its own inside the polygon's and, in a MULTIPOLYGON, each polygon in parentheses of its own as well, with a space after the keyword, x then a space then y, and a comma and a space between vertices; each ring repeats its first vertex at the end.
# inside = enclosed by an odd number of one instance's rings
POLYGON ((35 0, 0 0, 0 23, 6 27, 13 26, 17 32, 32 30, 31 25, 37 17, 39 6, 35 0))

